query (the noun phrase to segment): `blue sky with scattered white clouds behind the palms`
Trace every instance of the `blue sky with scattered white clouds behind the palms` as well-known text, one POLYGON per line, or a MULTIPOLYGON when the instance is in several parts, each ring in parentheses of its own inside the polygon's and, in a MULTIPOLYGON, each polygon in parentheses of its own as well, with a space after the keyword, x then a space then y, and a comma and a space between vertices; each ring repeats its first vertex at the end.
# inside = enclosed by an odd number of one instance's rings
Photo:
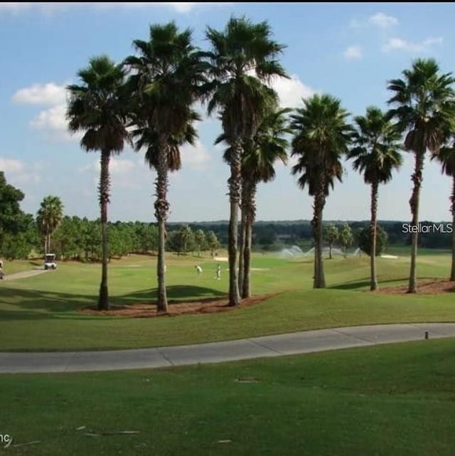
MULTIPOLYGON (((97 218, 96 153, 80 149, 65 125, 65 85, 90 57, 107 53, 116 61, 146 39, 149 24, 176 21, 193 28, 205 48, 206 26, 223 28, 231 15, 269 21, 274 38, 287 45, 282 63, 290 80, 275 81, 282 105, 326 92, 341 98, 352 115, 368 105, 387 107, 387 80, 399 78, 418 57, 434 57, 444 72, 455 70, 454 4, 0 4, 0 170, 26 193, 22 208, 36 213, 43 196, 60 196, 68 215, 97 218)), ((183 169, 171 176, 169 221, 228 218, 228 166, 213 140, 215 119, 198 124, 195 148, 182 150, 183 169)), ((412 156, 394 180, 380 188, 379 217, 410 220, 412 156)), ((154 221, 154 171, 141 152, 127 149, 112 167, 109 218, 154 221)), ((427 159, 421 220, 449 220, 451 181, 427 159)), ((326 220, 365 220, 369 188, 350 163, 342 184, 328 197, 326 220)), ((261 184, 258 220, 311 218, 311 198, 297 188, 289 166, 261 184)))

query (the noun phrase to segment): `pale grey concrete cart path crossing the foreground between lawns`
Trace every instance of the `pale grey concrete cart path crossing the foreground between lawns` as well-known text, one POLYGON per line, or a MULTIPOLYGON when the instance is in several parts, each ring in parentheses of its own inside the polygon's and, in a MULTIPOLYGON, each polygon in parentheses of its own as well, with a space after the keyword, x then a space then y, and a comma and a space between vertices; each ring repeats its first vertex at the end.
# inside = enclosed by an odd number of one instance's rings
POLYGON ((0 373, 113 371, 218 363, 239 359, 455 337, 455 323, 378 324, 320 329, 210 344, 117 351, 0 353, 0 373))

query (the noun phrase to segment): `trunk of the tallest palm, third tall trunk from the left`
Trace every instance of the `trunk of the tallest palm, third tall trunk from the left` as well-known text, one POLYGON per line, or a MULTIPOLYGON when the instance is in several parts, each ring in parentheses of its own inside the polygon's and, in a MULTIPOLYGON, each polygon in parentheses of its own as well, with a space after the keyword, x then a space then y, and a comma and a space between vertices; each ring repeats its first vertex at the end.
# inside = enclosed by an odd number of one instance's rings
POLYGON ((242 167, 242 142, 237 139, 232 147, 232 159, 230 162, 229 201, 230 218, 228 233, 228 256, 229 256, 229 305, 235 307, 240 303, 239 284, 237 282, 237 236, 239 219, 239 202, 241 187, 242 167))

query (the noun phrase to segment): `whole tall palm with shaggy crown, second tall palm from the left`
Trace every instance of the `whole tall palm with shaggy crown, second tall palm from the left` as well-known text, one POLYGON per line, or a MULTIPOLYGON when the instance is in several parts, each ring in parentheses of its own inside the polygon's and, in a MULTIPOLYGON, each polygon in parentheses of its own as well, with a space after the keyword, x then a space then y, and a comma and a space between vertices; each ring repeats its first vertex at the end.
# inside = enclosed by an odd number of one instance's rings
POLYGON ((124 60, 131 71, 128 88, 133 122, 145 129, 146 160, 157 174, 154 206, 159 229, 157 307, 161 312, 168 309, 164 275, 168 171, 180 168, 178 146, 196 136, 192 124, 198 116, 192 106, 205 82, 203 54, 193 46, 191 35, 189 28, 179 32, 173 22, 152 25, 149 41, 133 42, 139 55, 124 60))

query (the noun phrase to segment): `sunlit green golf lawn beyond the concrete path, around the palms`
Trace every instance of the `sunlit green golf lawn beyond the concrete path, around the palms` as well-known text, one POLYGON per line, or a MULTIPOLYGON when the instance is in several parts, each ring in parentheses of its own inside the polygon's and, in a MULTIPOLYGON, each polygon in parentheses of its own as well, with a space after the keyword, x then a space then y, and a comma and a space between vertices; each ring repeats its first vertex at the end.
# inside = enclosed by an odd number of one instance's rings
MULTIPOLYGON (((407 282, 410 260, 378 259, 381 287, 407 282)), ((421 255, 421 279, 449 276, 446 254, 421 255)), ((168 255, 169 299, 223 297, 228 264, 208 257, 168 255), (198 277, 194 265, 203 267, 198 277)), ((28 262, 25 265, 30 265, 28 262)), ((109 265, 112 304, 153 302, 156 258, 132 255, 109 265)), ((306 329, 392 322, 454 322, 454 295, 378 295, 368 292, 369 258, 325 261, 326 290, 312 290, 311 256, 285 260, 277 255, 252 258, 254 295, 279 292, 253 307, 220 314, 133 319, 98 317, 78 309, 97 301, 100 265, 63 263, 58 270, 0 282, 0 350, 50 351, 124 349, 190 344, 306 329)), ((172 305, 172 304, 171 304, 172 305)))

